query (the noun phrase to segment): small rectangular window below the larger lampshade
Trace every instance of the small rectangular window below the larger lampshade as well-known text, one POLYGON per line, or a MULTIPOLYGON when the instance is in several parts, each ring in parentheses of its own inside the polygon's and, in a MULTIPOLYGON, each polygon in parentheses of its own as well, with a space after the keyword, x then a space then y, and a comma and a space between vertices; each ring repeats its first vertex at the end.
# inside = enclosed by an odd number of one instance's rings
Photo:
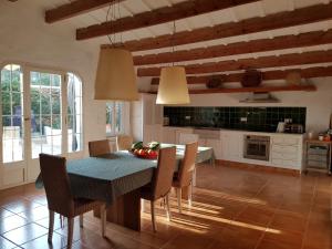
POLYGON ((124 133, 124 103, 106 103, 106 134, 117 135, 124 133))

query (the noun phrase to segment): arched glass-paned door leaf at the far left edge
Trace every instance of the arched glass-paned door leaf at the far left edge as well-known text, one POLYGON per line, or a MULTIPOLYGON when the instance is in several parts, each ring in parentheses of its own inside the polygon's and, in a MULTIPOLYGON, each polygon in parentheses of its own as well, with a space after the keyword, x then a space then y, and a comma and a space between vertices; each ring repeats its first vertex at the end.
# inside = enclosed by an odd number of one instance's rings
POLYGON ((8 64, 1 69, 1 137, 2 185, 24 181, 24 86, 22 68, 8 64))

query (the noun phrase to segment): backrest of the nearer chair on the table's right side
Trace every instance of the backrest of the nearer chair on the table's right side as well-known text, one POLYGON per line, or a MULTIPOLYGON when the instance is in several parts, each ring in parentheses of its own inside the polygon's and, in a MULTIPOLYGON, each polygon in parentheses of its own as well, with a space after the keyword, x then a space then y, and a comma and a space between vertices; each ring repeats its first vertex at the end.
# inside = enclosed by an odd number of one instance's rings
POLYGON ((176 147, 162 148, 158 156, 158 167, 152 181, 154 199, 164 197, 170 190, 175 164, 176 147))

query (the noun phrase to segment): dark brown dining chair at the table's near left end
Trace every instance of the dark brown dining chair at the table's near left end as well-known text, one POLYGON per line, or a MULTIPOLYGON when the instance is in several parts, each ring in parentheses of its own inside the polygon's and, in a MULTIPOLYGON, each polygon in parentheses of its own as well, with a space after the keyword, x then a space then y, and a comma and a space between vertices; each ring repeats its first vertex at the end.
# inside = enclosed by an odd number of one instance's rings
POLYGON ((89 199, 75 199, 71 193, 70 179, 65 169, 65 158, 40 154, 40 169, 45 187, 50 211, 49 238, 52 242, 54 228, 54 212, 68 218, 68 246, 72 248, 74 217, 80 216, 80 226, 83 227, 83 214, 101 208, 102 236, 105 236, 105 205, 89 199))

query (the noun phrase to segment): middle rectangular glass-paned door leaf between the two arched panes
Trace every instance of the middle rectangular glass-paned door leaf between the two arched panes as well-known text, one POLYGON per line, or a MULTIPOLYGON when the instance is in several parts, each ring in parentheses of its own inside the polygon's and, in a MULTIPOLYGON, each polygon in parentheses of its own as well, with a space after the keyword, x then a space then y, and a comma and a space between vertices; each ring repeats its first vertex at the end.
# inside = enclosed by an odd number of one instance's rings
POLYGON ((29 179, 39 174, 39 154, 61 155, 66 152, 63 143, 63 74, 30 70, 30 146, 29 179))

